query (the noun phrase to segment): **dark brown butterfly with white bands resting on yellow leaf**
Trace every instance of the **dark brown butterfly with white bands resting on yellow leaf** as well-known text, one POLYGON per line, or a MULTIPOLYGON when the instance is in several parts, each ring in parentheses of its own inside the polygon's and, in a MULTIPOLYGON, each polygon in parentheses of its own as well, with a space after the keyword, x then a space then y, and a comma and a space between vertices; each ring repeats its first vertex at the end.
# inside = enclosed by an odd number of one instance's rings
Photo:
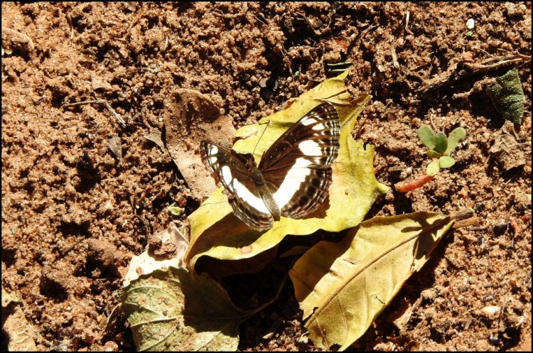
POLYGON ((264 232, 281 216, 302 219, 323 204, 338 156, 339 116, 322 103, 296 121, 263 153, 259 166, 251 153, 237 153, 200 141, 200 156, 233 213, 264 232))

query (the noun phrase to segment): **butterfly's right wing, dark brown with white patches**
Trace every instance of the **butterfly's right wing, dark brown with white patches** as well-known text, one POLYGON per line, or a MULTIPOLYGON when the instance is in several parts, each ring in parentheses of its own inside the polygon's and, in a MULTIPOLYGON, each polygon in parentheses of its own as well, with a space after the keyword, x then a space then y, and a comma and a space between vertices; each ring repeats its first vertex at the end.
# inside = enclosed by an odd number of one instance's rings
POLYGON ((296 121, 263 154, 259 169, 281 214, 303 218, 324 202, 339 136, 339 116, 333 104, 326 102, 296 121))

